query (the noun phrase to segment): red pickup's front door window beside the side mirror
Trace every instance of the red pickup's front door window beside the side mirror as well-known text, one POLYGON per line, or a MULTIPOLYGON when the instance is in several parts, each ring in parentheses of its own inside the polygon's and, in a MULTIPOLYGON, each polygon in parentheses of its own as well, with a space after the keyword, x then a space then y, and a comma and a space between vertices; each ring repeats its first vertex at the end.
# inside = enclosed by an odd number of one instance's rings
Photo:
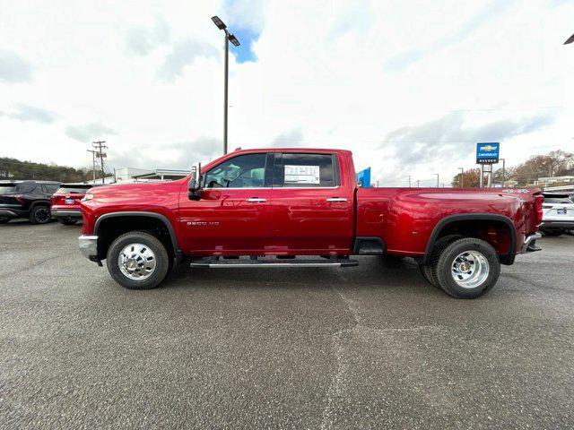
POLYGON ((223 161, 205 175, 205 188, 257 188, 265 186, 266 154, 239 155, 223 161))

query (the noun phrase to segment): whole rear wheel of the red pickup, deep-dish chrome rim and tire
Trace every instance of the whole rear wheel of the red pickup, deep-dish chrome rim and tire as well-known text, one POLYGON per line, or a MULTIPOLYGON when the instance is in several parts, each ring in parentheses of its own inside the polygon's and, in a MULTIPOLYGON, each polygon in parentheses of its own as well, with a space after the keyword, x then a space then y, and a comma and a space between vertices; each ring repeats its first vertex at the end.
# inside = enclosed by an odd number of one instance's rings
POLYGON ((448 295, 481 297, 500 276, 500 261, 494 248, 481 239, 458 239, 442 250, 432 266, 434 280, 448 295))

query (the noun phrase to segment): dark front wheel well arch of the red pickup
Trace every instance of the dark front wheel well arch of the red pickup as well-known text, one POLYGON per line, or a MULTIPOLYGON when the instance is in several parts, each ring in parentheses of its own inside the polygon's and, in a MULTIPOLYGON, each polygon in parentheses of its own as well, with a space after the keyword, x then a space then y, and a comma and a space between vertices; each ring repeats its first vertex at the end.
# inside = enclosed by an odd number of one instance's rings
POLYGON ((121 216, 101 219, 98 224, 98 259, 105 260, 109 245, 116 240, 117 236, 129 231, 146 231, 157 237, 170 258, 175 258, 174 244, 171 240, 170 229, 160 218, 147 216, 121 216))

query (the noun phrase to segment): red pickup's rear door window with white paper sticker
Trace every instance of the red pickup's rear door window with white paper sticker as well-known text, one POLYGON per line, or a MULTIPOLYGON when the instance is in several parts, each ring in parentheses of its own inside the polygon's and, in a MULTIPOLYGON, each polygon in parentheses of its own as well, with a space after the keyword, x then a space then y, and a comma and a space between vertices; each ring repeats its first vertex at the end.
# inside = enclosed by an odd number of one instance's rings
POLYGON ((338 184, 338 166, 332 154, 284 153, 275 159, 274 186, 333 187, 338 184))

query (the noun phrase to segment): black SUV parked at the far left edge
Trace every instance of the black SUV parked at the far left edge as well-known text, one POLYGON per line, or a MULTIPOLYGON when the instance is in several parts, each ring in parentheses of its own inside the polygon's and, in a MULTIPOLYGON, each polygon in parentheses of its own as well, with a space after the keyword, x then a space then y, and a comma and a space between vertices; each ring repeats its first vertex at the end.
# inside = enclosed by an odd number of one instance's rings
POLYGON ((50 196, 59 188, 52 181, 0 181, 0 224, 14 218, 45 224, 50 216, 50 196))

